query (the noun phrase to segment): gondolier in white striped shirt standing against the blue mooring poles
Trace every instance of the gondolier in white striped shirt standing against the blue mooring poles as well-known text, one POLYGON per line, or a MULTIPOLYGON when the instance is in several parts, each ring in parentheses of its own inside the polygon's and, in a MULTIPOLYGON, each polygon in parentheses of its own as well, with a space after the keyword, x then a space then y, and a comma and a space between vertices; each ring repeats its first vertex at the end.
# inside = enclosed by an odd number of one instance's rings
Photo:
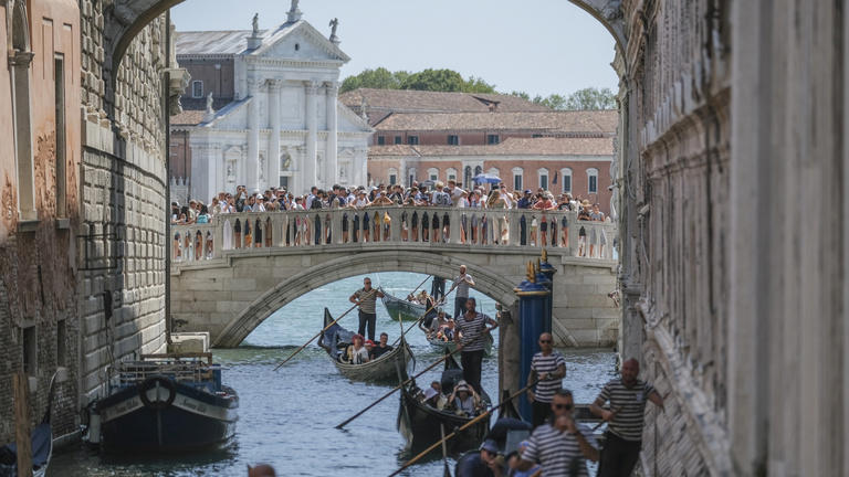
POLYGON ((534 427, 544 423, 552 413, 554 393, 566 377, 566 359, 554 350, 552 333, 539 335, 539 352, 531 360, 527 385, 536 380, 536 391, 527 390, 527 400, 533 404, 534 427))

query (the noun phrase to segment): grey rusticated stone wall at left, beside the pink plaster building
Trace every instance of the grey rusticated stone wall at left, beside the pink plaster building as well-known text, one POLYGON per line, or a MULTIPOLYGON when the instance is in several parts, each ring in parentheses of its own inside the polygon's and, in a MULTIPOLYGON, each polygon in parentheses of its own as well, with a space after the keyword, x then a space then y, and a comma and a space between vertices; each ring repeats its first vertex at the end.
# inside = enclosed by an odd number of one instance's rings
POLYGON ((97 396, 109 363, 163 351, 166 342, 167 25, 156 18, 133 40, 113 87, 104 62, 117 39, 104 38, 106 3, 81 0, 84 401, 97 396))

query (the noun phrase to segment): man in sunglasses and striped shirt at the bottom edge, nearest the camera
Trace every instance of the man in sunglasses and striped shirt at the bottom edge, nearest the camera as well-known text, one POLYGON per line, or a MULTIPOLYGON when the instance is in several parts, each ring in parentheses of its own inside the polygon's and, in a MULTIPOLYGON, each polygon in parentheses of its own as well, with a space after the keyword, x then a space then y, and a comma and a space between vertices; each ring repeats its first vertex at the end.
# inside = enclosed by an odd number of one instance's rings
POLYGON ((539 462, 543 476, 589 476, 587 459, 598 460, 598 444, 589 427, 575 422, 574 409, 572 391, 554 392, 552 416, 528 437, 520 470, 530 470, 539 462))

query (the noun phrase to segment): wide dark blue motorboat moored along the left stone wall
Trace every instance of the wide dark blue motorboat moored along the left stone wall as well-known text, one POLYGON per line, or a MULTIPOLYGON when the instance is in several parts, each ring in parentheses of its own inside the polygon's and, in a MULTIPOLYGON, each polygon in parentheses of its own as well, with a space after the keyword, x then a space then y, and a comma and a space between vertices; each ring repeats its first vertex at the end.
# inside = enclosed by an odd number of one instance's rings
POLYGON ((211 353, 143 354, 109 368, 88 442, 106 453, 182 453, 226 445, 239 396, 211 353))

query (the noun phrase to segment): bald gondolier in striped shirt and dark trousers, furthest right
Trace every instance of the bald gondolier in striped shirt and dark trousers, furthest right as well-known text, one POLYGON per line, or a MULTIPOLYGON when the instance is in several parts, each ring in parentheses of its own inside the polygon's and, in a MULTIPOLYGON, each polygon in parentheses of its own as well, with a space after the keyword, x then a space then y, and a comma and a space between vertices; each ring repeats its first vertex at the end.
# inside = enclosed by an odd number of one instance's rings
POLYGON ((663 409, 663 398, 646 381, 639 380, 640 363, 631 358, 622 363, 622 377, 605 384, 589 411, 607 421, 605 447, 598 477, 628 477, 640 457, 646 401, 663 409), (610 410, 601 406, 610 402, 610 410))

